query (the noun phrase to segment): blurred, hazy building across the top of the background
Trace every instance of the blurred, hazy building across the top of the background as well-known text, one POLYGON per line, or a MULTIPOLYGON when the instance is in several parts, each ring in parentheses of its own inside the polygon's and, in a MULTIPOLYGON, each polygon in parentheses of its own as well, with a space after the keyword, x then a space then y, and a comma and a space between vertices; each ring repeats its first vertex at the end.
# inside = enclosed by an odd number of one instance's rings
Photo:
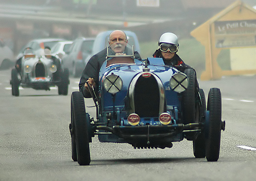
MULTIPOLYGON (((164 32, 188 37, 235 0, 1 0, 0 39, 17 53, 31 39, 95 37, 131 30, 140 42, 164 32)), ((254 6, 254 0, 244 0, 254 6)))

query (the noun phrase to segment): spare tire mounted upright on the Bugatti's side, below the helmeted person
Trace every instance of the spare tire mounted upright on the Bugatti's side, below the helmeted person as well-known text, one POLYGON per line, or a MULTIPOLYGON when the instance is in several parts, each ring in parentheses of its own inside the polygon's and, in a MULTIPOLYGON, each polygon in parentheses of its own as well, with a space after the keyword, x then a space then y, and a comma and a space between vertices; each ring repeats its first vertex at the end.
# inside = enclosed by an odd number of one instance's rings
POLYGON ((187 90, 183 93, 183 124, 188 124, 196 122, 196 72, 192 68, 187 68, 184 73, 188 76, 189 84, 187 90))

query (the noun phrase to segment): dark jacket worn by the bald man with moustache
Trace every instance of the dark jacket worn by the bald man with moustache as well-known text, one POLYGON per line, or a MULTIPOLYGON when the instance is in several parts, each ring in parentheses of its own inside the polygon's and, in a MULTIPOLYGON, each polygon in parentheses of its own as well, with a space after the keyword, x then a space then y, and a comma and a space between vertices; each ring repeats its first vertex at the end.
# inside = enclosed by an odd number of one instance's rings
MULTIPOLYGON (((126 51, 127 49, 124 51, 124 53, 126 53, 126 51)), ((128 53, 126 54, 130 55, 128 53)), ((93 55, 91 59, 88 61, 88 63, 86 64, 82 77, 80 79, 80 83, 79 83, 79 90, 80 92, 83 93, 85 98, 91 98, 91 94, 87 90, 85 90, 85 87, 84 87, 85 82, 90 77, 94 79, 96 83, 96 92, 98 91, 100 67, 106 60, 106 56, 107 56, 107 48, 93 55)), ((135 59, 141 60, 140 54, 137 51, 134 51, 134 56, 135 56, 135 59)))

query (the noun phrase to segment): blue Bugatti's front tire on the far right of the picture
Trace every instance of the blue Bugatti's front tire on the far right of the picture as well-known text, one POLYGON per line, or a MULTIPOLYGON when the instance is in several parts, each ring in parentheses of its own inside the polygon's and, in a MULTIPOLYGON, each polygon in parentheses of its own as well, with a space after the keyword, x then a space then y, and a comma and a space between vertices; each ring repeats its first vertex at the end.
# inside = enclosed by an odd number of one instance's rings
POLYGON ((209 124, 206 132, 206 159, 217 161, 220 155, 221 131, 221 93, 218 88, 211 88, 208 94, 207 111, 209 111, 209 124))

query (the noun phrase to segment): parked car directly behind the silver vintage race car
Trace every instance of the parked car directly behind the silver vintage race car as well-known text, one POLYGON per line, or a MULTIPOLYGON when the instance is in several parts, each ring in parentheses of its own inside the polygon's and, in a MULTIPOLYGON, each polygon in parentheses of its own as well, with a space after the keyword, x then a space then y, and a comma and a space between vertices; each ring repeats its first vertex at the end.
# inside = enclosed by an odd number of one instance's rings
POLYGON ((42 53, 44 52, 44 47, 48 46, 52 49, 52 47, 60 42, 65 41, 65 39, 61 38, 41 38, 41 39, 34 39, 28 42, 19 52, 16 59, 19 59, 23 56, 24 51, 26 48, 30 47, 35 51, 36 56, 41 57, 42 53))

